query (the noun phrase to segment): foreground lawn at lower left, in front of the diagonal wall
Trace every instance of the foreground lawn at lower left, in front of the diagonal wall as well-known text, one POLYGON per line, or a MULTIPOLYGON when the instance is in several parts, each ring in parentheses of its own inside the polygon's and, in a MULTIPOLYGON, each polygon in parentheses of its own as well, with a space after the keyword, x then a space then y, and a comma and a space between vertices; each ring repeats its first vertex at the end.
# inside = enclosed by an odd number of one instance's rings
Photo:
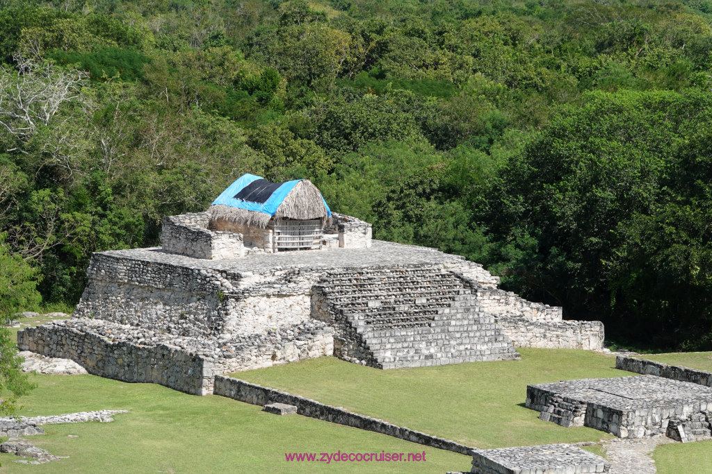
POLYGON ((19 414, 128 409, 109 424, 46 426, 29 438, 56 456, 22 465, 1 454, 9 473, 351 473, 353 463, 287 462, 286 452, 426 453, 420 463, 359 463, 363 473, 468 470, 471 458, 304 416, 276 416, 224 397, 196 397, 155 384, 91 375, 35 375, 38 387, 19 414), (77 435, 78 438, 70 438, 77 435))

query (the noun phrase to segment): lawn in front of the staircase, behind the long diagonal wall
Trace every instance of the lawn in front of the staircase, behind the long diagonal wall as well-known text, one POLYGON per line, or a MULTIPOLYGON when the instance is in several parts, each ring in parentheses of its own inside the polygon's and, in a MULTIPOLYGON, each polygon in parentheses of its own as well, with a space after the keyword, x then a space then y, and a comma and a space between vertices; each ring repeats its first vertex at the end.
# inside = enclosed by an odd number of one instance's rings
POLYGON ((377 370, 334 357, 234 374, 360 414, 477 448, 599 441, 590 428, 563 428, 524 406, 528 384, 631 376, 611 356, 520 349, 522 360, 377 370))

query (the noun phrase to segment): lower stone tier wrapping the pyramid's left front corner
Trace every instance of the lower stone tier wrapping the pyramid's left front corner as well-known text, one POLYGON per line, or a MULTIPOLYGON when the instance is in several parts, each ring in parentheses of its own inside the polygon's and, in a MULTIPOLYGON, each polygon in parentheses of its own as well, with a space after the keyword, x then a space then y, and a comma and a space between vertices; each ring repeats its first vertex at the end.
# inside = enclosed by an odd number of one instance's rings
POLYGON ((305 322, 236 338, 175 338, 95 320, 47 323, 20 330, 21 350, 71 359, 87 372, 124 382, 151 382, 211 394, 214 377, 333 353, 333 330, 305 322))

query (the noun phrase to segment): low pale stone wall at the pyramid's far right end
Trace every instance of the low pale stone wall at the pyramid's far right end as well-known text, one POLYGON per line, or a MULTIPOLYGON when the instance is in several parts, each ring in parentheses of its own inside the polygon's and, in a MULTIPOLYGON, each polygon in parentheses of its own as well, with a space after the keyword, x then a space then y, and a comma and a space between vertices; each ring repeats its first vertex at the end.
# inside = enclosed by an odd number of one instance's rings
POLYGON ((498 316, 497 322, 502 333, 518 348, 603 348, 604 328, 600 321, 529 321, 498 316))

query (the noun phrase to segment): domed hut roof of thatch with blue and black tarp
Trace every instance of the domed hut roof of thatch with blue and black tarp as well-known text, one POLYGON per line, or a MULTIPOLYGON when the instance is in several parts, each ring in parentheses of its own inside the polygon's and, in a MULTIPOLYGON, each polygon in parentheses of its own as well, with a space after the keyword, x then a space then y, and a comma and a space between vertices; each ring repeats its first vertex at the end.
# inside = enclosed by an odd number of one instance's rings
POLYGON ((209 208, 211 220, 265 228, 271 220, 331 220, 331 210, 308 179, 271 183, 246 174, 223 191, 209 208))

